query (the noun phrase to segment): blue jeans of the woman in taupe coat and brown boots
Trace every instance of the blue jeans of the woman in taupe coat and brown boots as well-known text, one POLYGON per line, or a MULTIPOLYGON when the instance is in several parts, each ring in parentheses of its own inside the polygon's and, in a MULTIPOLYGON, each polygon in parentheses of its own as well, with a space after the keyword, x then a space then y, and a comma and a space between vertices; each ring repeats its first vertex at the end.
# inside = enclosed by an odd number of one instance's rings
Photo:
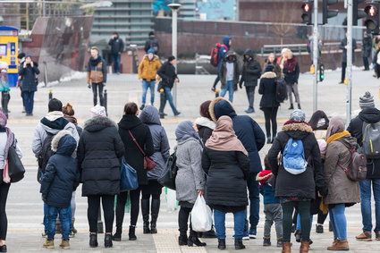
POLYGON ((334 239, 347 240, 347 220, 344 211, 346 206, 344 204, 335 205, 329 208, 330 221, 333 224, 334 239))

